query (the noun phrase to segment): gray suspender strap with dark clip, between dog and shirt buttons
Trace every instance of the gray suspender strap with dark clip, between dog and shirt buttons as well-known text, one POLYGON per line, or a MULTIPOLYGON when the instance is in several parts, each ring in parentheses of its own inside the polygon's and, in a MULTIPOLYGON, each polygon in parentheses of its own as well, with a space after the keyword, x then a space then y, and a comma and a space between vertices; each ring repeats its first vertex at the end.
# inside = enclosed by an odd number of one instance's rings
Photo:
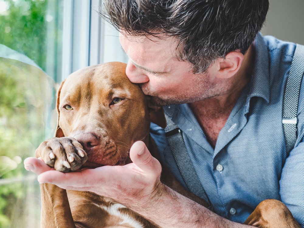
POLYGON ((167 115, 165 116, 167 120, 167 127, 165 128, 166 137, 169 141, 171 151, 178 166, 178 170, 181 173, 181 177, 185 181, 190 192, 204 199, 209 205, 211 205, 199 177, 196 174, 192 161, 190 160, 181 130, 170 117, 167 115))

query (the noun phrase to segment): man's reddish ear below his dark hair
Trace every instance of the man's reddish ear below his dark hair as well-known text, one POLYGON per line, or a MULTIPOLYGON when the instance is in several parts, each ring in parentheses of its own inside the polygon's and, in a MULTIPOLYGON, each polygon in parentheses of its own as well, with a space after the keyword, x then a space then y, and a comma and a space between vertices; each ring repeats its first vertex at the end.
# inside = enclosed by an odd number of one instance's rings
POLYGON ((231 78, 235 75, 244 60, 244 55, 240 51, 231 51, 225 58, 218 61, 218 73, 220 78, 231 78))

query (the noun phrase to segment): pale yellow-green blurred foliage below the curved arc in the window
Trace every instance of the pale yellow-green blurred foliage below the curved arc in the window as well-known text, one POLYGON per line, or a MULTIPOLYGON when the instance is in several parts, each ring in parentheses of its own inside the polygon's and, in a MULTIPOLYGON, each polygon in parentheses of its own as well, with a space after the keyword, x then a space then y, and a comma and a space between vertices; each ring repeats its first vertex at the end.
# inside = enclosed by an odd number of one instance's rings
MULTIPOLYGON (((26 199, 33 198, 34 181, 22 181, 28 172, 21 161, 33 157, 36 147, 53 136, 56 86, 39 68, 6 58, 0 58, 0 81, 0 180, 11 180, 0 182, 0 227, 29 227, 22 213, 29 210, 26 199)), ((36 195, 38 188, 36 184, 36 195)), ((39 224, 39 201, 34 208, 30 216, 39 224)))

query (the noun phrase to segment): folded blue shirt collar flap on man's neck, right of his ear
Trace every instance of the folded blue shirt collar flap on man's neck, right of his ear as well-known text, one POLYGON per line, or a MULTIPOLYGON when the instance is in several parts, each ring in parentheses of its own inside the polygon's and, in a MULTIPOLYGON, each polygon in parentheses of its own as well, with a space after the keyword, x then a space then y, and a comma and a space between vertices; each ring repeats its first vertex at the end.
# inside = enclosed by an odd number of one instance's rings
POLYGON ((261 33, 257 34, 253 45, 255 50, 255 59, 246 101, 247 113, 249 111, 249 103, 252 97, 261 97, 267 103, 269 103, 270 97, 268 49, 261 33))

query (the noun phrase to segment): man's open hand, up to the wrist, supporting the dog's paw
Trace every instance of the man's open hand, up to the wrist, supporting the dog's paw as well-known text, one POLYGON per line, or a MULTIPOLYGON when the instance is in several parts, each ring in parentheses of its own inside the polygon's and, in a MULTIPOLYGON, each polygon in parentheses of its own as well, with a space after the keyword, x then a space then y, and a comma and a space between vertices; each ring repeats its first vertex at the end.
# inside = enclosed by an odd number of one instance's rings
POLYGON ((144 204, 157 192, 157 186, 161 185, 161 164, 151 156, 142 141, 132 145, 130 158, 133 163, 124 166, 103 166, 69 173, 55 171, 41 158, 26 158, 24 166, 38 174, 40 183, 51 183, 64 189, 95 192, 132 208, 133 203, 141 201, 144 204))

